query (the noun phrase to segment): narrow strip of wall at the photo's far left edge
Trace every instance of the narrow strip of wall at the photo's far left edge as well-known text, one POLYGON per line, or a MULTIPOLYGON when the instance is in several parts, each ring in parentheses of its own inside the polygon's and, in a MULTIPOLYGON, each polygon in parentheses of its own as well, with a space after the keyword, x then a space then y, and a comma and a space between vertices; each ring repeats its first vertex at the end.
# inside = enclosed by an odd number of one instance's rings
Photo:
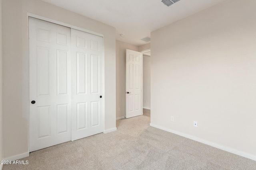
MULTIPOLYGON (((0 161, 3 159, 3 112, 2 112, 2 0, 0 0, 0 161)), ((0 169, 1 169, 0 165, 0 169)))

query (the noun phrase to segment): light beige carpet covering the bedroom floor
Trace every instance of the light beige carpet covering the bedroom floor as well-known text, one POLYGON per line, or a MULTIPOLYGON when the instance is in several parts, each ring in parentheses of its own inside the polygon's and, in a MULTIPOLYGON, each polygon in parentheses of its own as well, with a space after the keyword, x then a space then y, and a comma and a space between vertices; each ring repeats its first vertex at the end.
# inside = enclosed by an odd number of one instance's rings
POLYGON ((150 117, 117 121, 117 131, 31 152, 3 170, 256 170, 256 161, 149 126, 150 117))

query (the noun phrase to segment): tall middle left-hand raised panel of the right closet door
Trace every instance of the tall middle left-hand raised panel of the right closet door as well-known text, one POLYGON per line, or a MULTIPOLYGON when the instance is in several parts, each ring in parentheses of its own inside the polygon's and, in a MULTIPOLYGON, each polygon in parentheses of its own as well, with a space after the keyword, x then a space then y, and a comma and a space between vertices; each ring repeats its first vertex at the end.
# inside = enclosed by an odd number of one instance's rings
POLYGON ((86 54, 77 53, 76 58, 77 66, 77 94, 86 94, 86 54))

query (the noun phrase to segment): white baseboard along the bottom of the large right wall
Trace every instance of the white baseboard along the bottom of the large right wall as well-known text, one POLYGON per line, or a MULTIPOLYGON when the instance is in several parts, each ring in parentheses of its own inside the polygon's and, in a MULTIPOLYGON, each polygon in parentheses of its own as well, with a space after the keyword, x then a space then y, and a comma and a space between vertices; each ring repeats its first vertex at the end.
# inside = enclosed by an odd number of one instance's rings
POLYGON ((242 151, 239 151, 239 150, 236 150, 236 149, 232 149, 232 148, 228 148, 228 147, 224 147, 222 145, 218 145, 216 143, 212 143, 210 141, 206 141, 204 139, 201 139, 201 138, 198 138, 198 137, 194 137, 194 136, 191 136, 191 135, 188 135, 188 134, 185 134, 185 133, 181 133, 181 132, 178 132, 178 131, 174 131, 172 129, 168 129, 168 128, 165 128, 165 127, 161 127, 161 126, 158 126, 158 125, 154 125, 152 123, 150 123, 150 126, 152 127, 156 127, 158 129, 162 129, 164 131, 168 131, 170 133, 174 133, 176 135, 180 135, 182 137, 186 137, 188 139, 192 139, 194 141, 197 141, 197 142, 200 142, 200 143, 204 143, 206 145, 210 145, 212 147, 215 147, 215 148, 218 148, 218 149, 221 149, 221 150, 225 150, 227 152, 230 152, 230 153, 233 153, 233 154, 237 154, 239 156, 243 156, 245 158, 249 158, 249 159, 252 159, 252 160, 256 160, 256 155, 252 155, 252 154, 248 154, 248 153, 245 153, 245 152, 242 152, 242 151))

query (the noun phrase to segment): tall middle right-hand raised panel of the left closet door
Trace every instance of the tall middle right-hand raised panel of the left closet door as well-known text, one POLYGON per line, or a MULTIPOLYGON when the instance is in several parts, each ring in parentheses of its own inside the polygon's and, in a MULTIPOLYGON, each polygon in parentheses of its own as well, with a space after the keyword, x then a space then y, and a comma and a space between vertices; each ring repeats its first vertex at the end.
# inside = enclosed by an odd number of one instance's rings
POLYGON ((68 51, 57 50, 57 93, 68 94, 68 51))

